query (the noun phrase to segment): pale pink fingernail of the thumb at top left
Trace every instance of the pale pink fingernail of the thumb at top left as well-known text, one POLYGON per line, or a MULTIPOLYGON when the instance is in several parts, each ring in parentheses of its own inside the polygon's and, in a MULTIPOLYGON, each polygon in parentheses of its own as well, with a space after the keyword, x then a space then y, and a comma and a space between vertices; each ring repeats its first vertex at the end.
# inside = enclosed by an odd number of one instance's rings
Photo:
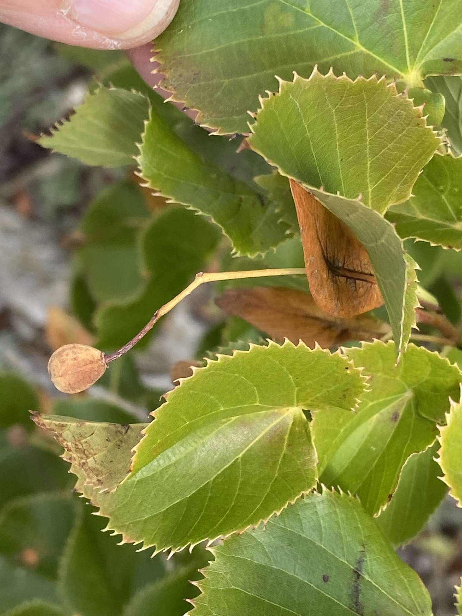
POLYGON ((174 17, 179 0, 74 0, 68 17, 118 39, 158 36, 174 17))

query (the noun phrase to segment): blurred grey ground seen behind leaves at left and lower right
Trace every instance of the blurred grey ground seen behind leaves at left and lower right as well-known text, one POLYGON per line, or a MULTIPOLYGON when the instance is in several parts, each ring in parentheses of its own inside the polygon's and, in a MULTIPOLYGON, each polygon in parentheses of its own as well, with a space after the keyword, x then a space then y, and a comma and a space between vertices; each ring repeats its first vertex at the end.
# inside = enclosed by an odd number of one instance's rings
MULTIPOLYGON (((68 308, 72 234, 87 203, 120 172, 50 154, 33 137, 81 102, 89 79, 89 70, 51 43, 0 26, 0 369, 17 371, 47 396, 59 395, 46 371, 47 315, 51 306, 68 308)), ((195 355, 207 328, 200 305, 199 294, 177 307, 138 357, 146 385, 170 389, 171 364, 195 355)), ((117 398, 96 386, 90 395, 117 398)), ((399 553, 428 586, 435 616, 455 614, 462 510, 454 501, 447 498, 425 532, 399 553)))

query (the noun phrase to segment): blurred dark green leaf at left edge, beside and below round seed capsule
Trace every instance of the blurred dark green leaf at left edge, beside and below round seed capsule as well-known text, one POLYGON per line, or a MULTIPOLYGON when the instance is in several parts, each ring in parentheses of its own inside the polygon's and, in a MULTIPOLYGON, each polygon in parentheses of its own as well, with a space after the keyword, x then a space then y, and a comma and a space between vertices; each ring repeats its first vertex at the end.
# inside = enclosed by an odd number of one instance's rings
POLYGON ((20 376, 0 373, 0 429, 20 424, 30 431, 30 410, 39 407, 37 394, 20 376))

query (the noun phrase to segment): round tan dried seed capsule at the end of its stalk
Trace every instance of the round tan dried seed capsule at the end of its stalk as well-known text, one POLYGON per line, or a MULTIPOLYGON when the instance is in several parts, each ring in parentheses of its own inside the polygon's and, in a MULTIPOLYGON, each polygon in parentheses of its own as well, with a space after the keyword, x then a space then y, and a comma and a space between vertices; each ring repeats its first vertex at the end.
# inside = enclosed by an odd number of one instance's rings
POLYGON ((78 394, 103 376, 104 355, 86 344, 65 344, 49 359, 48 371, 54 386, 64 394, 78 394))

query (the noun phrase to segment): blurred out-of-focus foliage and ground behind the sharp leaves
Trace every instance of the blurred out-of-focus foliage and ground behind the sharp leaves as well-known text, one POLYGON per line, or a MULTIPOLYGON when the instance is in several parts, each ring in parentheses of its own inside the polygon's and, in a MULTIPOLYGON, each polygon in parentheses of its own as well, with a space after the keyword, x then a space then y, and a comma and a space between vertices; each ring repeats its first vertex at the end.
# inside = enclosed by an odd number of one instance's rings
MULTIPOLYGON (((34 427, 29 411, 146 421, 171 389, 171 371, 173 378, 184 374, 176 362, 187 360, 187 367, 218 347, 263 335, 238 318, 225 319, 211 288, 180 304, 85 394, 55 391, 46 371, 51 352, 69 342, 105 351, 121 346, 202 269, 301 267, 299 238, 264 259, 233 259, 217 227, 153 197, 140 187, 134 165, 89 167, 35 143, 82 102, 89 86, 111 83, 148 94, 183 139, 235 176, 249 180, 249 168, 252 176, 269 172, 253 153, 237 156, 237 141, 217 145, 164 105, 121 52, 52 44, 0 26, 0 83, 0 614, 180 616, 184 599, 195 596, 188 580, 200 577, 195 571, 210 554, 197 546, 192 554, 151 559, 148 551, 116 546, 117 537, 99 532, 103 519, 73 494, 59 447, 34 427)), ((457 325, 462 254, 407 245, 421 266, 421 285, 457 325)), ((299 288, 301 280, 285 283, 299 288)), ((442 352, 462 368, 461 350, 442 352)), ((428 586, 436 616, 454 614, 462 512, 450 498, 399 554, 428 586)))

